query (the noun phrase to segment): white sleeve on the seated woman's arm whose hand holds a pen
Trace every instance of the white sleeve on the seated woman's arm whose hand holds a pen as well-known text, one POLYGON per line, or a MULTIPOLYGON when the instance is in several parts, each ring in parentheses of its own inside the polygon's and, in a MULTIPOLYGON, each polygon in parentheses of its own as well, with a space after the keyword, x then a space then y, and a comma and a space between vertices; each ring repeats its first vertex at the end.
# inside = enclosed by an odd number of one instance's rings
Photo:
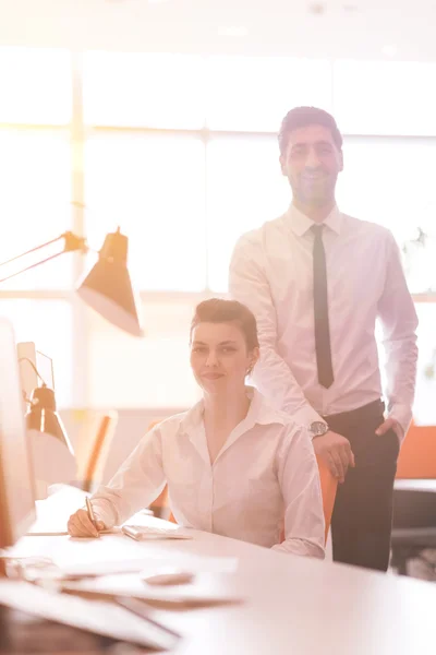
POLYGON ((147 432, 107 486, 92 497, 96 517, 106 527, 121 525, 138 510, 149 505, 162 491, 161 427, 147 432))

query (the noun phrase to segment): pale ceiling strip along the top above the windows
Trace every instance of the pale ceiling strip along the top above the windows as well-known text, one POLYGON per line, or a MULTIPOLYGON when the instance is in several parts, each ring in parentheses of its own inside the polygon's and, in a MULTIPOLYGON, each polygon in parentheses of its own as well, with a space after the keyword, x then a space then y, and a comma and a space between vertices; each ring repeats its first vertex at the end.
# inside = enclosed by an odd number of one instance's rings
POLYGON ((0 45, 78 49, 436 61, 435 24, 434 0, 0 0, 0 45))

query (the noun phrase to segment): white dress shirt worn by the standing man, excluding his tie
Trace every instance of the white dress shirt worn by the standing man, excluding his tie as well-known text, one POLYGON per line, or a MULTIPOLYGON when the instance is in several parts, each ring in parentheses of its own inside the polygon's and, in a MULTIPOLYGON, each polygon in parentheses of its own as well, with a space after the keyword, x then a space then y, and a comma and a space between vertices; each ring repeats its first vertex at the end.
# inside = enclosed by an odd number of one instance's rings
POLYGON ((324 222, 335 381, 318 383, 313 301, 313 221, 293 205, 245 234, 230 265, 230 295, 257 319, 253 380, 302 425, 382 396, 375 338, 384 330, 387 408, 405 433, 412 418, 417 318, 391 233, 337 207, 324 222))

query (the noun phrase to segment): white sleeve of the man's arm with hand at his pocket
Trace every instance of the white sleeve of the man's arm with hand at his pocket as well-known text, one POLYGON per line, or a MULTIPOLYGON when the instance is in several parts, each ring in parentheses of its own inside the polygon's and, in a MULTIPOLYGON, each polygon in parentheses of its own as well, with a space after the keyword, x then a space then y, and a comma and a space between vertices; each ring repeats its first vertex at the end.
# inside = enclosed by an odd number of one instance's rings
POLYGON ((386 395, 389 416, 396 418, 405 434, 412 419, 416 381, 417 317, 405 282, 399 248, 390 231, 387 243, 387 271, 378 302, 384 349, 386 353, 386 395))

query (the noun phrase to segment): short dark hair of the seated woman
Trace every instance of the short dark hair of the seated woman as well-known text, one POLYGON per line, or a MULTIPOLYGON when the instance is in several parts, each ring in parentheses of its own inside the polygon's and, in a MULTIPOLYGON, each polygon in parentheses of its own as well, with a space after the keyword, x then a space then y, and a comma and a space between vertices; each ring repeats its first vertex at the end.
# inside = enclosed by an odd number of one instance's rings
POLYGON ((253 350, 259 345, 254 313, 238 300, 210 298, 197 305, 191 322, 191 341, 194 327, 199 323, 235 323, 245 337, 249 350, 253 350))

